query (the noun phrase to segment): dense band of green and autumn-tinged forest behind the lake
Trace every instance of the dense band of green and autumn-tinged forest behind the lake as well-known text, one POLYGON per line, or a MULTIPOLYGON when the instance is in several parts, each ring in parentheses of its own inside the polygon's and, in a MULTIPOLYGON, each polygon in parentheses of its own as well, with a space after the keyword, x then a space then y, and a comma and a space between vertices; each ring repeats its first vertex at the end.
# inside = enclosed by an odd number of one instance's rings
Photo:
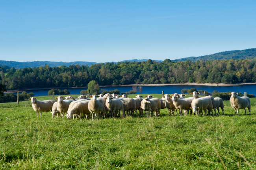
POLYGON ((237 83, 256 82, 256 58, 243 60, 213 60, 191 62, 100 63, 91 66, 48 65, 15 69, 0 68, 0 83, 8 90, 40 87, 87 86, 91 80, 99 85, 152 83, 237 83))

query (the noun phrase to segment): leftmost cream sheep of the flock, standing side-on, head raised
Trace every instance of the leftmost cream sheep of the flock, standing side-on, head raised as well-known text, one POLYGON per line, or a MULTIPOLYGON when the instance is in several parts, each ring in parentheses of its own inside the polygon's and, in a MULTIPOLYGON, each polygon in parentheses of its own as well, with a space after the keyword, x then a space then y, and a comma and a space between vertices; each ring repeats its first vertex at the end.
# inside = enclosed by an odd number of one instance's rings
POLYGON ((31 99, 32 102, 32 108, 37 112, 37 117, 38 113, 40 112, 40 116, 42 115, 42 112, 51 112, 52 110, 52 105, 56 102, 54 100, 47 100, 47 101, 37 101, 37 98, 32 97, 31 99))

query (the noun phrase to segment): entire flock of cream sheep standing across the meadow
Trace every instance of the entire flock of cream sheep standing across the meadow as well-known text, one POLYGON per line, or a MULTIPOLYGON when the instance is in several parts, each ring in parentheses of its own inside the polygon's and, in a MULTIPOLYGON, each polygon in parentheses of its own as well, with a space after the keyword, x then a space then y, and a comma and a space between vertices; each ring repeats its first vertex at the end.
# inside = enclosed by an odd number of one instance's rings
MULTIPOLYGON (((64 113, 67 113, 66 117, 71 119, 74 116, 80 118, 81 121, 81 114, 83 113, 83 117, 86 119, 93 120, 93 116, 97 117, 97 114, 100 113, 102 117, 115 117, 117 114, 120 115, 121 118, 125 117, 126 115, 134 116, 134 112, 138 116, 143 115, 143 111, 148 111, 148 114, 151 112, 151 116, 153 112, 155 113, 154 116, 159 116, 160 110, 167 108, 169 110, 169 114, 174 116, 174 111, 177 110, 179 115, 187 115, 190 111, 190 115, 192 112, 197 115, 200 113, 205 115, 211 115, 213 110, 215 112, 215 116, 219 114, 219 108, 221 108, 223 115, 224 115, 224 105, 223 100, 219 97, 213 98, 212 96, 206 97, 199 97, 196 91, 193 93, 193 97, 184 98, 183 94, 178 95, 178 93, 174 93, 173 95, 165 94, 162 99, 154 98, 154 96, 147 95, 143 99, 141 95, 137 95, 134 99, 127 98, 128 95, 118 95, 118 94, 105 94, 105 95, 92 95, 90 96, 91 99, 88 99, 85 95, 80 95, 79 99, 74 99, 72 96, 62 97, 58 96, 54 100, 46 100, 46 101, 37 101, 35 97, 32 97, 32 107, 35 112, 51 112, 52 117, 61 114, 63 117, 64 113), (97 98, 98 97, 98 98, 97 98), (217 114, 216 114, 217 109, 217 114), (183 113, 182 113, 183 111, 183 113)), ((237 93, 232 92, 229 93, 230 97, 230 104, 232 108, 235 109, 236 114, 238 115, 239 109, 248 108, 250 112, 250 99, 249 97, 238 97, 237 93), (237 109, 237 110, 236 110, 237 109)), ((246 114, 246 110, 245 110, 246 114)))

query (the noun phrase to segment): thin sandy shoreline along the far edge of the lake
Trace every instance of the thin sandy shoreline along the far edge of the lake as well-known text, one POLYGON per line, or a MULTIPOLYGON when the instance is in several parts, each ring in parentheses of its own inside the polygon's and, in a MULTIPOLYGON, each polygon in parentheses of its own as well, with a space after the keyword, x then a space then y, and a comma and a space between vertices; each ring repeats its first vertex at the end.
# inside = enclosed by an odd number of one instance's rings
MULTIPOLYGON (((175 85, 187 85, 187 86, 243 86, 243 85, 249 85, 249 84, 255 84, 256 83, 237 83, 237 84, 224 84, 224 83, 175 83, 175 84, 127 84, 127 85, 109 85, 109 86, 100 86, 100 88, 104 87, 124 87, 124 86, 175 86, 175 85)), ((23 88, 18 90, 8 90, 4 93, 17 93, 18 91, 30 91, 30 90, 51 90, 51 89, 66 89, 66 88, 87 88, 87 86, 83 87, 52 87, 52 88, 23 88)))

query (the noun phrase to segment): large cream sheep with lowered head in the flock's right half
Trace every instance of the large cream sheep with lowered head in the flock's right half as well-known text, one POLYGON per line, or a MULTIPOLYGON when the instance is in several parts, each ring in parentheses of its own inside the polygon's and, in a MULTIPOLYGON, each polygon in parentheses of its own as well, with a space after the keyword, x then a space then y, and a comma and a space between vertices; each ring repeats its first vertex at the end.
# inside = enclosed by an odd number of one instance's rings
MULTIPOLYGON (((198 99, 194 99, 191 103, 191 107, 190 109, 193 109, 193 112, 194 112, 194 115, 195 113, 197 113, 197 115, 204 110, 204 113, 205 115, 207 114, 207 108, 210 109, 210 111, 212 112, 213 114, 213 106, 212 106, 212 103, 211 103, 211 99, 210 98, 206 98, 206 97, 201 97, 201 98, 198 98, 198 99), (198 112, 199 111, 199 112, 198 112)), ((202 115, 203 112, 202 112, 202 115)), ((211 113, 210 113, 211 115, 211 113)))

